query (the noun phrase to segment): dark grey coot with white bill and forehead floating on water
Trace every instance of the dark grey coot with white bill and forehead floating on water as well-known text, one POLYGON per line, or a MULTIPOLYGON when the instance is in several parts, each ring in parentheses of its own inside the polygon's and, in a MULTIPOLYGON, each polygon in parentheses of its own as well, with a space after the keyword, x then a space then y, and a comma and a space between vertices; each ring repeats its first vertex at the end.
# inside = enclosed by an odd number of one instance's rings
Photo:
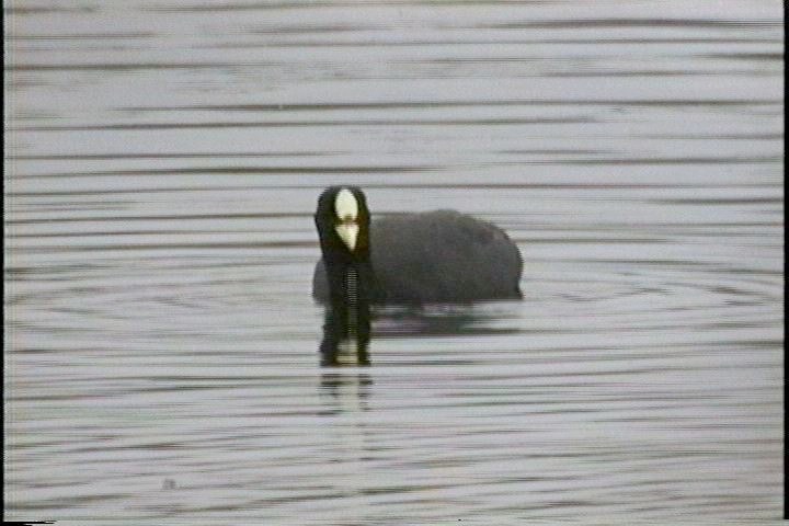
POLYGON ((334 309, 522 298, 521 253, 490 222, 436 210, 370 225, 367 199, 356 186, 323 191, 315 220, 323 258, 312 296, 334 309))

